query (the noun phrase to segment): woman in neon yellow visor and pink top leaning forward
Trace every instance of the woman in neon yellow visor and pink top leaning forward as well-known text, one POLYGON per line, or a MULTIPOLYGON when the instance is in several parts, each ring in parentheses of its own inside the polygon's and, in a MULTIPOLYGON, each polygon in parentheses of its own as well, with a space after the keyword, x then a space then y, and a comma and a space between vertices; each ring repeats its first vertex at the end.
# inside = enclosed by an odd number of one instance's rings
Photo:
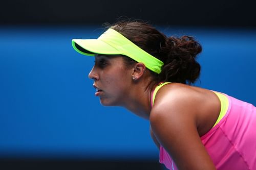
POLYGON ((201 45, 123 21, 98 39, 73 39, 95 56, 89 78, 104 106, 150 120, 160 162, 169 169, 256 169, 256 109, 226 94, 186 84, 200 74, 201 45))

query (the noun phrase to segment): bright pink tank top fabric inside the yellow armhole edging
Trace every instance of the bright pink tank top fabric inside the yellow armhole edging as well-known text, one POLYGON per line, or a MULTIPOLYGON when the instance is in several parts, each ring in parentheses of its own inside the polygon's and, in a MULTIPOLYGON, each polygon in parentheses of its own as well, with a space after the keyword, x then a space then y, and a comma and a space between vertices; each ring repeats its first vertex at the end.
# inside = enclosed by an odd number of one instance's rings
MULTIPOLYGON (((256 169, 256 108, 231 96, 226 97, 225 115, 201 137, 202 143, 218 170, 256 169)), ((162 146, 159 156, 160 163, 168 169, 178 169, 162 146)))

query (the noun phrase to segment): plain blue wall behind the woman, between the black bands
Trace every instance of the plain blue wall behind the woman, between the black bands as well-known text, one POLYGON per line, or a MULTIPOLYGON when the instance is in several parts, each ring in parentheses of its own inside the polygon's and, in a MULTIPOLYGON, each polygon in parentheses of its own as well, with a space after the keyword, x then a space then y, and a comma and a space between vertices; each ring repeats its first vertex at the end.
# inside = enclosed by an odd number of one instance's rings
MULTIPOLYGON (((76 53, 71 39, 96 38, 97 28, 0 28, 1 157, 158 159, 146 120, 94 96, 94 58, 76 53)), ((256 31, 159 29, 203 45, 196 85, 256 104, 256 31)))

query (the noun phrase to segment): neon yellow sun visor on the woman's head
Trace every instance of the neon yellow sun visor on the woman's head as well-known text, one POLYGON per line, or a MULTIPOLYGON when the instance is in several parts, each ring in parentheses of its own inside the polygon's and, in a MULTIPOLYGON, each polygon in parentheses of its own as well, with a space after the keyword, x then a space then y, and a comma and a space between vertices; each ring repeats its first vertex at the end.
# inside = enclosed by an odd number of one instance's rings
POLYGON ((94 56, 94 54, 125 55, 159 74, 163 62, 148 54, 132 41, 113 29, 105 31, 98 39, 73 39, 73 48, 80 54, 94 56))

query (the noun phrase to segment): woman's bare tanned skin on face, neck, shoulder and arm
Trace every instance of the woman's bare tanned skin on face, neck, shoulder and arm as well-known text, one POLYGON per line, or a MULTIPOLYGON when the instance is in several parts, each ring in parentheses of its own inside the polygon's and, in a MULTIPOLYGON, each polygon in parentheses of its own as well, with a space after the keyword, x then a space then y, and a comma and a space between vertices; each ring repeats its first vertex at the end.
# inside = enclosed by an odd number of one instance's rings
POLYGON ((95 55, 89 78, 104 106, 122 106, 150 121, 151 136, 180 170, 216 169, 200 137, 214 126, 221 109, 217 95, 181 83, 164 85, 151 107, 152 82, 143 63, 127 68, 122 57, 95 55), (134 80, 132 78, 135 78, 134 80))

